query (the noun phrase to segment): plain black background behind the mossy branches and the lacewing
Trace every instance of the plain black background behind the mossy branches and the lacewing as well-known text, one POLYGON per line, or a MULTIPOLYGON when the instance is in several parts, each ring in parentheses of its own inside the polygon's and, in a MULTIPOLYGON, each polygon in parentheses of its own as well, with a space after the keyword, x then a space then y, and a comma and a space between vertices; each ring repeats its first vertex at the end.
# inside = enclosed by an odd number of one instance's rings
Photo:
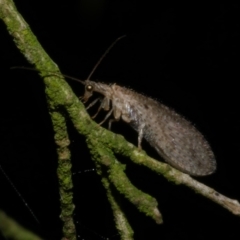
MULTIPOLYGON (((167 4, 159 1, 15 1, 43 48, 63 73, 85 79, 107 47, 114 46, 92 80, 117 83, 172 107, 204 134, 218 168, 199 181, 240 199, 239 11, 237 4, 167 4)), ((57 158, 44 85, 0 23, 0 164, 31 207, 0 171, 0 208, 45 239, 60 239, 57 158)), ((77 95, 83 86, 71 82, 77 95)), ((94 109, 90 111, 94 113, 94 109)), ((100 121, 101 118, 97 119, 100 121)), ((105 127, 107 125, 104 125, 105 127)), ((73 150, 75 219, 79 239, 119 239, 100 178, 84 138, 69 123, 73 150)), ((137 143, 127 124, 112 129, 137 143)), ((159 158, 147 143, 144 149, 159 158)), ((140 189, 156 197, 164 224, 122 204, 140 239, 238 239, 240 218, 183 186, 127 164, 140 189)))

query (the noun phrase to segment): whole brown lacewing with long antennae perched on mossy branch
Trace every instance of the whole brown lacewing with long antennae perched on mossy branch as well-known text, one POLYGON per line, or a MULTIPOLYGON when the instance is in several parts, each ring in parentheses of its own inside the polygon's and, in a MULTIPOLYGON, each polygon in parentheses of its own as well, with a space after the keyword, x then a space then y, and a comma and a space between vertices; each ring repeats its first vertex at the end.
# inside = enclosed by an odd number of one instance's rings
MULTIPOLYGON (((169 107, 117 84, 105 84, 89 80, 102 59, 117 41, 116 39, 99 59, 87 80, 82 81, 67 75, 69 79, 85 86, 83 102, 87 102, 94 92, 103 95, 95 118, 101 109, 108 111, 103 124, 111 115, 109 129, 113 121, 122 119, 138 133, 138 148, 142 138, 156 149, 159 155, 170 165, 193 176, 204 176, 216 170, 214 154, 203 135, 184 117, 169 107)), ((59 76, 58 74, 53 74, 59 76)), ((100 99, 95 99, 90 108, 100 99)))

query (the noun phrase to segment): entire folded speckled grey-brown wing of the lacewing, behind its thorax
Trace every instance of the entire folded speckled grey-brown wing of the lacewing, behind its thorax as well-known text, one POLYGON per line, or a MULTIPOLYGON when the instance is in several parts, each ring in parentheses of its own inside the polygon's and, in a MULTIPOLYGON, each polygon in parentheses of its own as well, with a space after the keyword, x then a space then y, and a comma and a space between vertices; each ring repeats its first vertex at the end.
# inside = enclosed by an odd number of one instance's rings
POLYGON ((216 170, 208 142, 190 122, 151 98, 125 88, 118 92, 124 99, 119 107, 123 113, 128 112, 130 125, 138 133, 143 126, 144 138, 166 162, 194 176, 209 175, 216 170))

